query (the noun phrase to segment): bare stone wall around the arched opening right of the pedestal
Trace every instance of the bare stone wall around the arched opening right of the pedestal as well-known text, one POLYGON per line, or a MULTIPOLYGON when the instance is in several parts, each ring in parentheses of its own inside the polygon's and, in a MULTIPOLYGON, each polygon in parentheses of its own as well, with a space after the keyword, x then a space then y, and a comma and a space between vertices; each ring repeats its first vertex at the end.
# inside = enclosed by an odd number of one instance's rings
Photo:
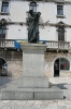
POLYGON ((54 76, 54 62, 58 58, 65 58, 70 62, 70 70, 60 70, 59 76, 71 76, 71 55, 69 53, 52 53, 45 52, 45 65, 44 65, 44 76, 53 77, 54 76))

